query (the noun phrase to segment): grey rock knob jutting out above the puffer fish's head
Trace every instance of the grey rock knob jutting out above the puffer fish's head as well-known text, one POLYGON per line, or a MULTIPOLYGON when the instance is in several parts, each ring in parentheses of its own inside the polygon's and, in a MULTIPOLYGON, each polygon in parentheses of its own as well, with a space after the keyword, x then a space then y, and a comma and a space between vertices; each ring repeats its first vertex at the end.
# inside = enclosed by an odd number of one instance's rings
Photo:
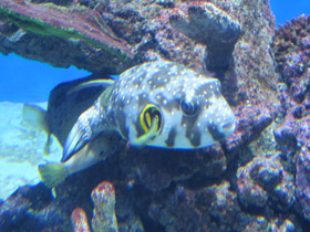
POLYGON ((207 45, 206 63, 210 71, 226 70, 234 46, 241 35, 240 24, 210 2, 194 1, 186 7, 185 11, 179 8, 170 11, 172 25, 193 40, 207 45))

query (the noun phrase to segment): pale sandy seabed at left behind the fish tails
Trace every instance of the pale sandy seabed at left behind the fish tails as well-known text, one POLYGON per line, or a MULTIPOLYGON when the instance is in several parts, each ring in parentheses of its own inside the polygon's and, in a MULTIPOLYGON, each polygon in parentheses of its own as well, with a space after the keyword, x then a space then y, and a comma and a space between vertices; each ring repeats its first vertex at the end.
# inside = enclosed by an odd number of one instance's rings
MULTIPOLYGON (((46 103, 34 105, 46 108, 46 103)), ((22 120, 20 103, 0 102, 0 198, 6 200, 23 184, 40 182, 38 165, 58 162, 62 148, 56 139, 44 155, 46 133, 22 120)))

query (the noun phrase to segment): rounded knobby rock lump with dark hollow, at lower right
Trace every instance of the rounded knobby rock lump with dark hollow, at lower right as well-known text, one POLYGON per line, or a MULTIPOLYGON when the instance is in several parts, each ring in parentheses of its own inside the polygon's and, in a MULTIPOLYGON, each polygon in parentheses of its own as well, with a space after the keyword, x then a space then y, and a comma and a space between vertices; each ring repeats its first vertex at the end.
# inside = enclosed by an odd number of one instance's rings
POLYGON ((245 207, 265 208, 270 201, 277 210, 288 210, 294 203, 293 177, 283 169, 278 156, 255 157, 240 167, 237 184, 245 207))

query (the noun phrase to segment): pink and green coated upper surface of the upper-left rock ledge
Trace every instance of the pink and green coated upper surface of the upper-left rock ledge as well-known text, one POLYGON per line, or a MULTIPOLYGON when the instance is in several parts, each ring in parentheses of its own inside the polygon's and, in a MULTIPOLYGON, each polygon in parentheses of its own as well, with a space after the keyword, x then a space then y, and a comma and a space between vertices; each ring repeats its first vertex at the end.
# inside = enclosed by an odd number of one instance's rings
POLYGON ((123 62, 132 59, 126 42, 117 38, 101 15, 84 7, 59 7, 52 3, 34 4, 25 1, 0 1, 1 18, 23 30, 42 36, 83 40, 103 49, 123 62))

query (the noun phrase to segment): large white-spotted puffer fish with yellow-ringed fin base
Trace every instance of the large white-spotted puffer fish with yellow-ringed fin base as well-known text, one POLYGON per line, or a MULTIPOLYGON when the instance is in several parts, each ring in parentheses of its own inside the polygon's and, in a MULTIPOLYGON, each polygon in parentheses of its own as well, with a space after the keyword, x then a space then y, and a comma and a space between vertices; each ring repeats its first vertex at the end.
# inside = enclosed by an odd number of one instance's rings
POLYGON ((229 137, 235 124, 217 78, 173 62, 144 63, 123 72, 79 117, 62 161, 103 131, 133 146, 195 149, 229 137))

